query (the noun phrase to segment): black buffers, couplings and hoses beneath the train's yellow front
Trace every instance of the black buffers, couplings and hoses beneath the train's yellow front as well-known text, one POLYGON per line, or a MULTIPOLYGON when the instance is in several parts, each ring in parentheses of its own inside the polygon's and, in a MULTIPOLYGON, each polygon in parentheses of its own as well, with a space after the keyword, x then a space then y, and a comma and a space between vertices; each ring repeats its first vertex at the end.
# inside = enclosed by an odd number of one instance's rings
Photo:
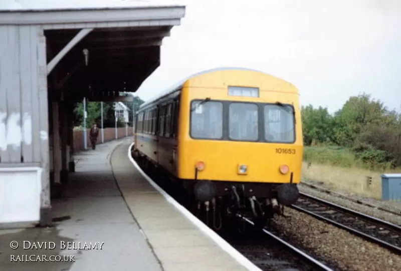
POLYGON ((185 180, 182 183, 186 193, 192 194, 197 202, 196 214, 199 215, 203 208, 207 223, 215 229, 221 228, 222 217, 235 219, 237 213, 252 217, 257 225, 264 226, 269 224, 275 214, 283 214, 283 206, 291 205, 299 198, 298 187, 291 182, 266 185, 255 182, 185 180))

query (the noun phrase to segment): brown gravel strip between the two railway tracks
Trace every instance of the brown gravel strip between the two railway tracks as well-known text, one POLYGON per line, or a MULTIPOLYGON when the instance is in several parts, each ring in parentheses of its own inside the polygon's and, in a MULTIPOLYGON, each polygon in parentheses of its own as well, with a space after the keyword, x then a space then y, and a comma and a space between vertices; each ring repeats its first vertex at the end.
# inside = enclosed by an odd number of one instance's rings
POLYGON ((284 213, 289 217, 277 217, 274 227, 282 228, 293 245, 305 247, 327 261, 335 261, 342 270, 400 270, 401 257, 379 245, 302 212, 285 208, 284 213))

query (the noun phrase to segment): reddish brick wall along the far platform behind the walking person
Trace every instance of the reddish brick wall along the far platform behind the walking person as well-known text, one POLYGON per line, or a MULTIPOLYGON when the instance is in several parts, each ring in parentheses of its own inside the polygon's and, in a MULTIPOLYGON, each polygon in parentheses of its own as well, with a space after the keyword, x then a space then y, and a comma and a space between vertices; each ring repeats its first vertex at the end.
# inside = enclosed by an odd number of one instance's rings
MULTIPOLYGON (((127 129, 128 136, 132 136, 132 127, 128 128, 117 128, 117 138, 125 137, 125 129, 127 129)), ((115 140, 115 128, 104 128, 104 142, 115 140)), ((90 129, 86 129, 86 144, 87 148, 92 148, 91 141, 89 139, 89 131, 90 129)), ((74 151, 84 150, 84 131, 83 130, 74 130, 74 151)), ((96 144, 102 144, 102 131, 99 131, 99 137, 97 138, 96 144)))

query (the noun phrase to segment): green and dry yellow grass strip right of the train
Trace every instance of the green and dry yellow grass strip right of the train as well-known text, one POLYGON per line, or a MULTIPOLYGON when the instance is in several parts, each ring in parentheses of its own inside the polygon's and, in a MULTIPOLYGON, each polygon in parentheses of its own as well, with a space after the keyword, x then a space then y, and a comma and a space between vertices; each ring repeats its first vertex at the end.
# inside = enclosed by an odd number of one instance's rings
POLYGON ((304 149, 303 179, 322 182, 329 189, 380 199, 380 175, 393 172, 399 173, 401 169, 366 165, 346 148, 314 146, 304 149), (368 184, 368 177, 371 177, 371 184, 368 184))

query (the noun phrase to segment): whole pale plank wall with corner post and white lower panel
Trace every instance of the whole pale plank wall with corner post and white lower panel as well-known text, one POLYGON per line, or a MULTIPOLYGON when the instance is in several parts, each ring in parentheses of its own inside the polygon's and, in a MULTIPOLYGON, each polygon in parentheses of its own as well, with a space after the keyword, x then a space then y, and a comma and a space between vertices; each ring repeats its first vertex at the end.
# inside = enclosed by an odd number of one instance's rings
POLYGON ((50 206, 45 45, 39 26, 0 26, 0 223, 50 206))

